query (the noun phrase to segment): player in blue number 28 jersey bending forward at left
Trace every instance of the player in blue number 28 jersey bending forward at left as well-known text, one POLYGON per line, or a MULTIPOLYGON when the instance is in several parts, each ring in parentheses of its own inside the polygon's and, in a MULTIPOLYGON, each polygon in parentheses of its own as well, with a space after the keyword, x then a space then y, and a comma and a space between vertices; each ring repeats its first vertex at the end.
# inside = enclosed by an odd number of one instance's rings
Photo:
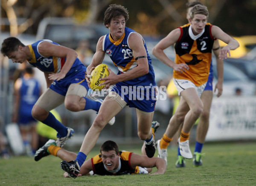
MULTIPOLYGON (((62 148, 65 141, 73 136, 74 130, 59 122, 50 110, 64 102, 65 107, 74 112, 89 109, 99 111, 102 102, 85 97, 89 90, 85 80, 86 67, 77 58, 75 50, 50 40, 25 46, 19 39, 9 37, 3 41, 1 52, 13 63, 28 62, 44 72, 48 88, 35 103, 32 116, 58 132, 59 147, 62 148)), ((113 120, 110 124, 113 124, 113 120)))

